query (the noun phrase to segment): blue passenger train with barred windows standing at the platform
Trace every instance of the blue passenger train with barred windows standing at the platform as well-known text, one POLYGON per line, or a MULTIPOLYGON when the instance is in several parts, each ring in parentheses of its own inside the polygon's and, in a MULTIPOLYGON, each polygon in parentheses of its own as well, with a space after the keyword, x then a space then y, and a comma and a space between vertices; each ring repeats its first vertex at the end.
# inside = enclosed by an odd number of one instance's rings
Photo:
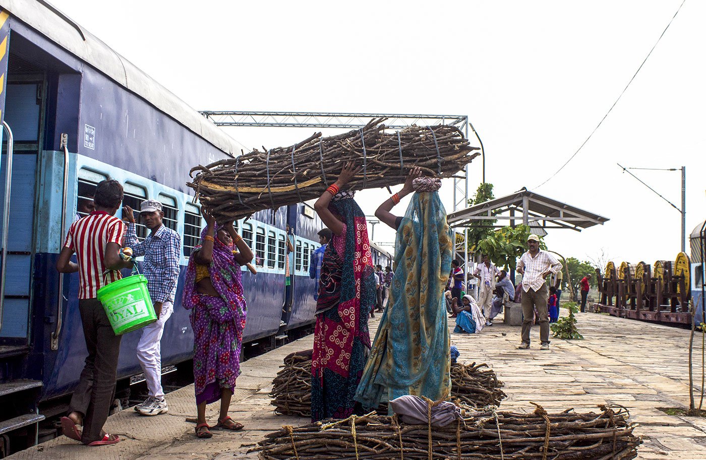
MULTIPOLYGON (((193 334, 181 308, 186 263, 203 226, 185 186, 189 169, 239 148, 213 123, 38 0, 0 0, 0 170, 3 265, 0 289, 0 435, 37 441, 37 423, 64 410, 86 356, 78 276, 54 269, 68 225, 95 184, 115 178, 124 204, 164 205, 164 223, 183 236, 174 315, 162 339, 162 365, 191 359, 193 334), (9 182, 8 182, 9 179, 9 182), (6 187, 6 185, 8 187, 6 187)), ((283 337, 314 321, 316 283, 309 260, 322 228, 305 203, 262 211, 237 226, 256 254, 244 273, 244 341, 283 337), (290 226, 293 234, 285 233, 290 226), (287 254, 287 238, 294 252, 287 254), (292 275, 285 287, 285 267, 292 275), (285 289, 291 289, 291 295, 285 289)), ((138 227, 144 238, 146 229, 138 227)), ((374 260, 390 255, 374 249, 374 260)), ((244 269, 245 270, 245 269, 244 269)), ((140 372, 139 332, 121 344, 119 379, 140 372)), ((0 436, 1 439, 6 439, 0 436)), ((13 450, 22 447, 13 444, 13 450)), ((7 452, 0 442, 0 456, 7 452)))

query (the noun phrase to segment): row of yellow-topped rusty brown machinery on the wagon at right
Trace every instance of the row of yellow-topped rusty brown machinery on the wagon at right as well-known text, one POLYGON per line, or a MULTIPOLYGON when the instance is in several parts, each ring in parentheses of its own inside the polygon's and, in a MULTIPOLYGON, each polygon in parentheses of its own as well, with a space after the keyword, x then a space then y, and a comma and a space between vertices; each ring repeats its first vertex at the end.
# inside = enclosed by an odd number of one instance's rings
POLYGON ((621 262, 616 269, 608 262, 604 272, 596 270, 599 301, 597 312, 635 320, 690 325, 690 262, 678 253, 674 262, 657 260, 621 262))

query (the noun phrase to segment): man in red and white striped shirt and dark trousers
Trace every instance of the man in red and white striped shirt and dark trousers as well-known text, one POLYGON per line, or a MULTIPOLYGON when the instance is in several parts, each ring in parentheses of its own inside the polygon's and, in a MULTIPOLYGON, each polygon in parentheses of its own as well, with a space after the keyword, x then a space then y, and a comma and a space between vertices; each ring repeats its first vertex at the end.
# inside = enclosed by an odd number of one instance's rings
POLYGON ((93 201, 95 211, 69 227, 56 270, 80 274, 78 308, 88 349, 78 386, 68 406, 68 416, 61 418, 61 425, 64 435, 95 446, 119 441, 116 435, 104 432, 103 425, 112 403, 121 339, 113 332, 96 298, 97 291, 120 279, 118 270, 131 267, 132 262, 120 257, 125 224, 114 217, 123 201, 123 187, 118 181, 102 181, 93 201), (73 253, 78 263, 71 262, 73 253), (82 424, 83 432, 80 432, 77 427, 82 424))

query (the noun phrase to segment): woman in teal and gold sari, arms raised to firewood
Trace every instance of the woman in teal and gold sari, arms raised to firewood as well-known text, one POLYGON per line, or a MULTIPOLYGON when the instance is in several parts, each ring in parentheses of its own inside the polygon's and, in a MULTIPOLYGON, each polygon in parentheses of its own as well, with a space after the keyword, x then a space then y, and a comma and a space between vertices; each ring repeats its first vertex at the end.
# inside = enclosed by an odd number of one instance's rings
POLYGON ((412 394, 450 396, 450 338, 444 290, 451 269, 451 231, 437 190, 441 179, 410 171, 405 186, 375 212, 397 231, 390 301, 361 378, 356 401, 366 409, 412 394), (414 192, 404 217, 390 212, 414 192))

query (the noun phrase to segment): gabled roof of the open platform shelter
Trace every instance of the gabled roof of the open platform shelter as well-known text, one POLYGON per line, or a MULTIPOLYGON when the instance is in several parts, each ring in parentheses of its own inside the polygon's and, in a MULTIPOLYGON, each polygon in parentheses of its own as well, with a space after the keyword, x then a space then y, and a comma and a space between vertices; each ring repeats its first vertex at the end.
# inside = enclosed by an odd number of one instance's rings
MULTIPOLYGON (((523 187, 515 193, 478 203, 465 210, 448 214, 452 227, 470 226, 473 222, 487 222, 489 228, 526 224, 533 229, 571 229, 581 231, 602 225, 609 219, 588 212, 566 202, 539 195, 523 187), (497 221, 497 222, 493 222, 497 221)), ((482 225, 481 225, 482 226, 482 225)))

